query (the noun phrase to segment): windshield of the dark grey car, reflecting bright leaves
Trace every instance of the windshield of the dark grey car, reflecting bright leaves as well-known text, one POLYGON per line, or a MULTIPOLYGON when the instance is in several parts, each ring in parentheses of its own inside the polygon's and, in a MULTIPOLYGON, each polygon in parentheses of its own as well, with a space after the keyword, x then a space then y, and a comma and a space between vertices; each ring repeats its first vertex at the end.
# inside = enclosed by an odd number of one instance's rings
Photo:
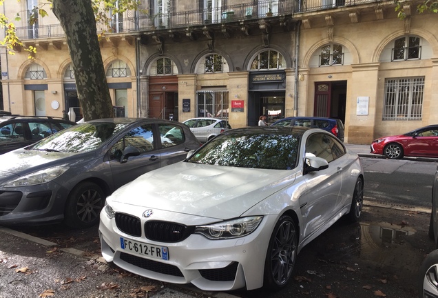
POLYGON ((30 149, 71 153, 88 152, 101 146, 125 126, 127 123, 81 123, 43 139, 30 149))

